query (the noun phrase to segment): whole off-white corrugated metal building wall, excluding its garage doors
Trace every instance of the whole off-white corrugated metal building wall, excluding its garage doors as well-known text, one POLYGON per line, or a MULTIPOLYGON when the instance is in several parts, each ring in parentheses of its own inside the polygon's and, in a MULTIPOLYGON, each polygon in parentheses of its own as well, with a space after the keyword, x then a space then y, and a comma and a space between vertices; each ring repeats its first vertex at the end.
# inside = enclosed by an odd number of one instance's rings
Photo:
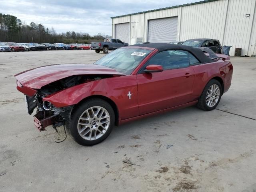
POLYGON ((215 38, 222 45, 233 46, 231 56, 235 48, 242 48, 242 55, 251 55, 256 43, 255 6, 256 0, 217 0, 113 18, 112 36, 115 24, 130 22, 130 38, 146 41, 148 20, 178 16, 177 40, 215 38))

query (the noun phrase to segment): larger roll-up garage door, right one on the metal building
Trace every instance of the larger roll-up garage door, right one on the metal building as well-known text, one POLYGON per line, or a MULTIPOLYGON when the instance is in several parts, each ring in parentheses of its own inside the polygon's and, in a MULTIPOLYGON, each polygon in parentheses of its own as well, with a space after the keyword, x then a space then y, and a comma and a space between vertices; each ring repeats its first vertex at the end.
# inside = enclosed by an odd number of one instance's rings
POLYGON ((148 42, 169 43, 177 40, 178 17, 148 20, 148 42))

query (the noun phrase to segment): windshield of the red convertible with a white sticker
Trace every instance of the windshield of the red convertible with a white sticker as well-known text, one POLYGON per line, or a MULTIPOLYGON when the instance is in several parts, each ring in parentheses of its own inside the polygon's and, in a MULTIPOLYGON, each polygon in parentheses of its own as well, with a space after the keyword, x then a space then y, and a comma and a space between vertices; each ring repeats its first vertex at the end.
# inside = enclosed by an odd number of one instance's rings
POLYGON ((112 68, 129 75, 152 50, 141 48, 119 48, 102 57, 94 64, 112 68))

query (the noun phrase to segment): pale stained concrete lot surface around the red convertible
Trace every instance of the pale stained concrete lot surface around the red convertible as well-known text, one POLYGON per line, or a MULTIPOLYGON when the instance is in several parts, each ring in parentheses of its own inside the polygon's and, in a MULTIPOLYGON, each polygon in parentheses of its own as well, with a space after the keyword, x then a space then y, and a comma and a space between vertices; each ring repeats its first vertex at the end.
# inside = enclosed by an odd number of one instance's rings
POLYGON ((93 50, 0 53, 1 192, 256 191, 256 58, 231 58, 232 86, 219 110, 189 107, 130 122, 91 147, 70 136, 60 142, 62 127, 38 132, 14 74, 92 64, 102 56, 93 50))

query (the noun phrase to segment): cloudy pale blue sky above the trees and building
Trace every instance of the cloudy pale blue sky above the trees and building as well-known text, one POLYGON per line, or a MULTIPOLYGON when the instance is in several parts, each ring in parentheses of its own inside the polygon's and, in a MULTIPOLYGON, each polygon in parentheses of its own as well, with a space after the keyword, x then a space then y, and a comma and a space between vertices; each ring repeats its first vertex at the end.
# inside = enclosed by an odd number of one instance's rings
POLYGON ((0 0, 0 13, 26 24, 36 22, 56 32, 112 34, 110 17, 196 2, 199 0, 0 0))

